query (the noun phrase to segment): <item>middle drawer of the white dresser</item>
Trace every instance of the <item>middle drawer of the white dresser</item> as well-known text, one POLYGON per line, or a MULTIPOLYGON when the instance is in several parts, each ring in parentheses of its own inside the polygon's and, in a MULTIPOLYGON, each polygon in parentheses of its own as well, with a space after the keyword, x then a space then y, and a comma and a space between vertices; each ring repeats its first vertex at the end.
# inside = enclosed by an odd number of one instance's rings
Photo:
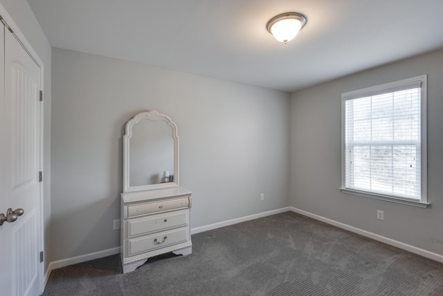
POLYGON ((172 211, 127 220, 129 237, 183 227, 189 224, 189 210, 172 211))

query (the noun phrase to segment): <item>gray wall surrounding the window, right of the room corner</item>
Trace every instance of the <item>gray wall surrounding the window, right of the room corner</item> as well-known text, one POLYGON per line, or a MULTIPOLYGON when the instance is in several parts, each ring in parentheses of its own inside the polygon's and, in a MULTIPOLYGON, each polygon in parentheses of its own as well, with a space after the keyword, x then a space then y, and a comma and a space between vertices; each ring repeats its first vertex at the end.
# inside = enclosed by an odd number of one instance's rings
POLYGON ((291 94, 292 207, 443 255, 443 51, 291 94), (341 93, 428 74, 428 201, 421 209, 341 193, 341 93), (384 220, 377 220, 377 209, 384 220))

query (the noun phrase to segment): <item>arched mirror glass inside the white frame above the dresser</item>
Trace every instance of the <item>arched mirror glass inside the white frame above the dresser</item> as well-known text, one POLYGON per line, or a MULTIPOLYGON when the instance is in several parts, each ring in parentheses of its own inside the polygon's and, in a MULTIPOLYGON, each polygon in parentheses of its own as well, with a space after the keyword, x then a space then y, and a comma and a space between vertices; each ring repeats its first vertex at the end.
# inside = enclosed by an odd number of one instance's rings
POLYGON ((170 182, 174 174, 174 139, 165 121, 139 121, 132 127, 129 147, 129 186, 170 182))

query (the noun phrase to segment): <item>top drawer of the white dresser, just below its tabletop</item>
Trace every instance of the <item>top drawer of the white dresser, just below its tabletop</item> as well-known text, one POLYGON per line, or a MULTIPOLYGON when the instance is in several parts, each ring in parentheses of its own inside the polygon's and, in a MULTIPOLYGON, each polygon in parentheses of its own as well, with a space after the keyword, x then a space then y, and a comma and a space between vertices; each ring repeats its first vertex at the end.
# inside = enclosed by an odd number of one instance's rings
POLYGON ((190 206, 190 197, 161 200, 160 202, 147 202, 144 204, 132 204, 127 207, 128 218, 170 211, 172 209, 185 209, 190 206))

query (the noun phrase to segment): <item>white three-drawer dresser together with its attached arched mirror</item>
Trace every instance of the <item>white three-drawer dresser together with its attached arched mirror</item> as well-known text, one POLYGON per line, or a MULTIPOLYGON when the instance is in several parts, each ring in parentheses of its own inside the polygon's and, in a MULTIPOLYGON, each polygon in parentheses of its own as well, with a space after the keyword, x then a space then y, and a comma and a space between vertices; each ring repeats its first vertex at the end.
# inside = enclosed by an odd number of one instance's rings
POLYGON ((120 254, 124 273, 152 256, 192 253, 191 194, 179 185, 177 125, 156 110, 135 114, 123 135, 120 254))

